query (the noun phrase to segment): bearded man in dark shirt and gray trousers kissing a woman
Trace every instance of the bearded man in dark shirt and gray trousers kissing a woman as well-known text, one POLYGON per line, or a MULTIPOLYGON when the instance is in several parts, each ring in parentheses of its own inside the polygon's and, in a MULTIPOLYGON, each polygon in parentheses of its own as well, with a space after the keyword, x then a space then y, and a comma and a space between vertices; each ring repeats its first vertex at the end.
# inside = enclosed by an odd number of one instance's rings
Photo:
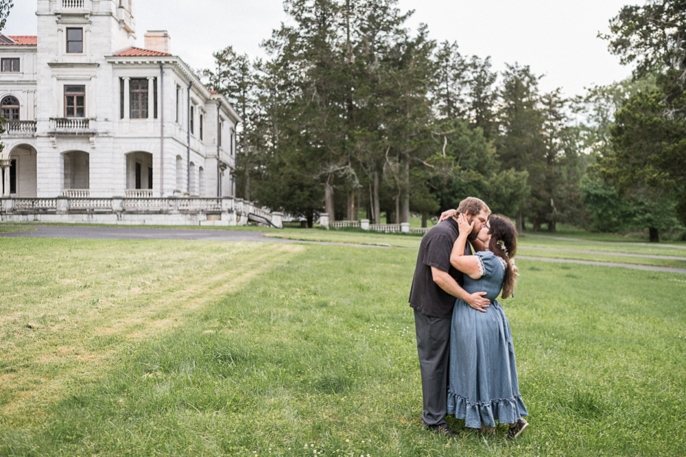
MULTIPOLYGON (((470 239, 477 250, 483 250, 475 236, 486 224, 490 209, 482 200, 469 197, 460 202, 457 212, 452 211, 451 217, 431 227, 422 238, 410 290, 422 375, 422 426, 447 436, 457 435, 445 421, 450 323, 455 299, 461 298, 481 312, 486 312, 490 305, 483 298, 486 292, 467 294, 462 289, 462 273, 450 265, 450 253, 460 233, 459 213, 466 214, 470 223, 475 222, 470 239)), ((469 244, 464 254, 471 255, 469 244)))

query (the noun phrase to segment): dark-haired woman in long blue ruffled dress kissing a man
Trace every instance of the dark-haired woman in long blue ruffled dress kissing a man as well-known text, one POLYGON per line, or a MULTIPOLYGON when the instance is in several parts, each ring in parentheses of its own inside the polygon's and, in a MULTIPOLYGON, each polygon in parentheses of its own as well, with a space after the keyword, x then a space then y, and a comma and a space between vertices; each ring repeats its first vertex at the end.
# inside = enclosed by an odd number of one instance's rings
POLYGON ((450 263, 464 273, 464 290, 487 292, 491 305, 486 312, 456 301, 450 333, 448 414, 464 419, 464 425, 495 432, 495 421, 510 424, 508 438, 517 438, 527 427, 529 413, 519 395, 517 366, 510 323, 500 303, 514 290, 517 268, 517 232, 507 218, 494 215, 482 227, 478 239, 486 250, 464 255, 464 244, 473 224, 458 217, 460 236, 453 245, 450 263))

